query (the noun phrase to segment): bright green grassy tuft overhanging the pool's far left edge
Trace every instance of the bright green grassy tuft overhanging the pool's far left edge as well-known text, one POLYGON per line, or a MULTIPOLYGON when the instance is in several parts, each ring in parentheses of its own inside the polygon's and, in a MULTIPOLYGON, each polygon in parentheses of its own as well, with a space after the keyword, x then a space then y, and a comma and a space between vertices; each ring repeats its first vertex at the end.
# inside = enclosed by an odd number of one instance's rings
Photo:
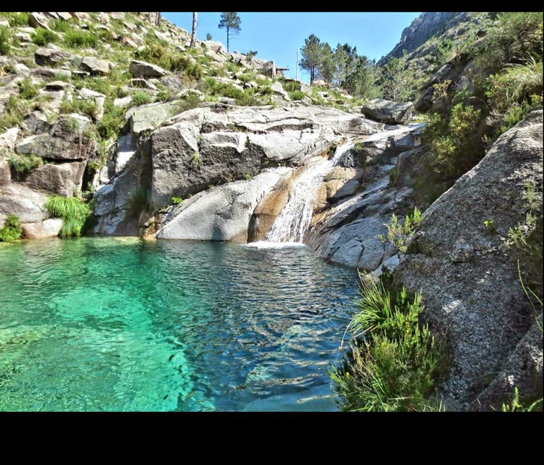
POLYGON ((86 220, 91 215, 89 204, 76 197, 63 197, 52 194, 44 205, 51 218, 61 218, 63 225, 59 236, 62 238, 80 235, 86 220))

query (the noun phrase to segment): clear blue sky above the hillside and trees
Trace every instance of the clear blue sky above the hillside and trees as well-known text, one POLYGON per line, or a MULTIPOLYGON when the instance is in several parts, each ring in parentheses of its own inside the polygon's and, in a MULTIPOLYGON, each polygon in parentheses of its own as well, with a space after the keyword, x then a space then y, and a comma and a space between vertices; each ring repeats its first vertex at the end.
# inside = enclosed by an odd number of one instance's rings
MULTIPOLYGON (((197 39, 227 43, 225 29, 219 29, 220 13, 199 13, 197 39)), ((193 13, 163 13, 163 16, 189 33, 193 13)), ((334 48, 338 42, 357 47, 359 54, 379 60, 397 44, 400 33, 419 13, 238 13, 242 30, 231 37, 230 51, 257 50, 257 58, 274 60, 289 67, 285 74, 295 77, 296 49, 304 39, 316 34, 334 48)), ((300 57, 299 57, 300 59, 300 57)), ((309 80, 299 69, 299 79, 309 80)))

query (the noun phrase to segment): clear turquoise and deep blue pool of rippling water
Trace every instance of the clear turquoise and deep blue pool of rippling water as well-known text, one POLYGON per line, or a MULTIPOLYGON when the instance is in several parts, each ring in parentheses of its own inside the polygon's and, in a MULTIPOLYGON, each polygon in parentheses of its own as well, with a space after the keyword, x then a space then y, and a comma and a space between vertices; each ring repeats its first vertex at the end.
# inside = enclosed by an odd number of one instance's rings
POLYGON ((336 410, 356 280, 306 247, 0 243, 0 411, 336 410))

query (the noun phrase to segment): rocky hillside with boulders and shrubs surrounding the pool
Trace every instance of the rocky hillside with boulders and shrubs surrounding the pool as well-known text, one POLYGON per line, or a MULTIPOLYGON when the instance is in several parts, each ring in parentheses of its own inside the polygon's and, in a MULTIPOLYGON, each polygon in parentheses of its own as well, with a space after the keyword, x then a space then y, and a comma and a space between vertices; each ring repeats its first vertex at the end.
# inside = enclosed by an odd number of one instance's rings
POLYGON ((2 15, 0 240, 295 241, 396 268, 449 343, 448 406, 539 393, 541 14, 417 18, 389 55, 406 49, 415 106, 191 48, 144 13, 2 15))

